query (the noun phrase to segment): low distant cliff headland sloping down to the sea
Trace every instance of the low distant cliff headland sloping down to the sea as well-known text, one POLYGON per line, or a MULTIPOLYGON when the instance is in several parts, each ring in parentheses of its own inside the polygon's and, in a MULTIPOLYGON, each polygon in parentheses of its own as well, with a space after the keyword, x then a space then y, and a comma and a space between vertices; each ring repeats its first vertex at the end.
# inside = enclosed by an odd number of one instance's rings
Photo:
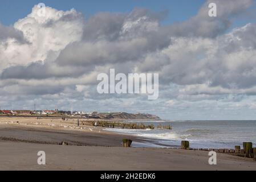
POLYGON ((130 113, 104 113, 97 114, 101 119, 151 119, 160 120, 157 115, 152 114, 130 114, 130 113))

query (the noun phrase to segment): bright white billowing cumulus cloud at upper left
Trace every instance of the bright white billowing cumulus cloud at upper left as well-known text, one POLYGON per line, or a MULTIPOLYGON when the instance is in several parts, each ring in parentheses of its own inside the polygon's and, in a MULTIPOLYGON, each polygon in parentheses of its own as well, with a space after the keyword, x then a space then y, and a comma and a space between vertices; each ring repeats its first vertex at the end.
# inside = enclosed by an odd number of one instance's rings
POLYGON ((38 60, 54 61, 63 48, 82 37, 83 16, 75 10, 64 12, 46 7, 46 18, 37 12, 38 7, 34 6, 31 14, 13 27, 0 26, 0 35, 5 37, 0 44, 1 69, 38 60))

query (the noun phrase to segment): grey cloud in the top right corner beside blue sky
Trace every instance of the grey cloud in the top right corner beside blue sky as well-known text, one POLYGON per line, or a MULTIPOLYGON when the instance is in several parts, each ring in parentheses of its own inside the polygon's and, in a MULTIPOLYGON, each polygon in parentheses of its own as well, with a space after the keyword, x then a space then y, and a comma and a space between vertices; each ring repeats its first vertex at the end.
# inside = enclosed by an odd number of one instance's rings
POLYGON ((224 34, 231 26, 233 18, 245 13, 252 4, 253 0, 207 0, 196 16, 193 16, 185 22, 173 24, 170 26, 170 30, 173 31, 174 35, 214 38, 220 34, 224 34), (217 5, 216 18, 212 18, 208 15, 209 3, 216 3, 217 5))

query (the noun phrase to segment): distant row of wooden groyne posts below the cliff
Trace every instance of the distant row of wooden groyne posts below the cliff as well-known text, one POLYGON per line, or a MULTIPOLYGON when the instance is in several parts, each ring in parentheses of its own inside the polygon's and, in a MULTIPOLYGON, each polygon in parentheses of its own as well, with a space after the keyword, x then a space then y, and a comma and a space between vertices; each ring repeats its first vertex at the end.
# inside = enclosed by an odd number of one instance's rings
MULTIPOLYGON (((145 125, 144 123, 124 123, 124 122, 108 122, 108 121, 90 121, 92 126, 108 127, 113 129, 131 129, 131 130, 147 130, 155 129, 155 125, 145 125)), ((159 125, 157 129, 172 130, 170 125, 159 125)))

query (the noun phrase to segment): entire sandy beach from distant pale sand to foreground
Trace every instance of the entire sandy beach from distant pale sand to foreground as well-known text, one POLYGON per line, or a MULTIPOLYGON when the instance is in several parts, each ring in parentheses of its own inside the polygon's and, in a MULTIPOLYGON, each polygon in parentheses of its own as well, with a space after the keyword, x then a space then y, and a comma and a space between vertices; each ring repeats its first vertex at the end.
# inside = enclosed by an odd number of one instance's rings
POLYGON ((124 148, 124 138, 149 140, 61 120, 1 117, 0 170, 256 170, 255 160, 229 154, 218 153, 217 165, 209 165, 208 151, 124 148), (37 164, 38 151, 46 165, 37 164))

